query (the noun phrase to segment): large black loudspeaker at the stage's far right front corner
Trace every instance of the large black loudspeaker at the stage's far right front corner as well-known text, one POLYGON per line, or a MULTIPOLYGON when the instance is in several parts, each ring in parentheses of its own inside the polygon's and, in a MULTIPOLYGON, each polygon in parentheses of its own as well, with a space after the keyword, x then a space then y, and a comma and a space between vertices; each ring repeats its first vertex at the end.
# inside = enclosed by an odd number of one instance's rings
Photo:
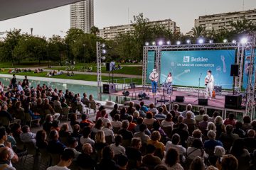
POLYGON ((227 95, 225 96, 225 108, 238 109, 241 107, 242 95, 227 95))

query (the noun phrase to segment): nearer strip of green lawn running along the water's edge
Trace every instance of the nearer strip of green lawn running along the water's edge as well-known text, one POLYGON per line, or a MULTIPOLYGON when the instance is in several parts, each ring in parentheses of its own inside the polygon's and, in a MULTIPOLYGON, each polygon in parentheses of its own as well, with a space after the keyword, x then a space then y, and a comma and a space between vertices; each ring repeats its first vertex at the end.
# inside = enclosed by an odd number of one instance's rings
MULTIPOLYGON (((0 72, 0 74, 10 74, 8 70, 5 70, 4 72, 0 72)), ((11 73, 13 74, 13 73, 11 73)), ((28 77, 47 77, 46 74, 47 72, 43 73, 33 73, 33 72, 21 72, 21 73, 15 73, 16 75, 27 75, 28 77)), ((65 74, 63 75, 57 75, 54 77, 50 78, 55 78, 55 79, 76 79, 76 80, 85 80, 85 81, 97 81, 97 76, 96 75, 85 75, 85 74, 75 74, 74 77, 67 77, 65 74)), ((114 77, 114 79, 117 79, 117 83, 123 83, 122 77, 114 77)), ((108 77, 102 77, 102 80, 108 80, 108 77)), ((110 81, 112 80, 112 77, 110 77, 110 81)), ((114 81, 116 82, 116 81, 114 81)), ((131 79, 126 79, 125 83, 130 83, 131 79)), ((142 79, 132 79, 132 82, 136 84, 142 84, 142 79)))

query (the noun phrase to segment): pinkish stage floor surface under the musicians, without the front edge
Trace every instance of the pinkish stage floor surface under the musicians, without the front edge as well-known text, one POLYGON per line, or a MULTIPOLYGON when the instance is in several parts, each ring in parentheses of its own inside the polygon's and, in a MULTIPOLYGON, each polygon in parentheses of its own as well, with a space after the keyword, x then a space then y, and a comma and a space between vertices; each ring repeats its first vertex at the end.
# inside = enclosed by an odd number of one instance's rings
MULTIPOLYGON (((132 101, 135 104, 139 104, 140 101, 138 100, 138 94, 139 92, 142 92, 143 89, 142 88, 135 88, 135 89, 127 89, 125 91, 129 91, 129 96, 127 96, 127 98, 132 98, 132 101)), ((123 91, 117 91, 116 93, 110 94, 111 96, 122 96, 124 97, 124 95, 122 94, 123 91)), ((156 95, 154 96, 153 93, 151 93, 151 91, 146 91, 144 89, 144 93, 149 97, 149 99, 143 99, 144 103, 146 106, 149 106, 150 103, 159 103, 157 102, 157 100, 160 100, 161 98, 165 98, 167 100, 169 100, 169 97, 166 96, 166 94, 164 94, 163 96, 163 91, 160 90, 160 92, 157 92, 156 95)), ((227 93, 225 93, 227 94, 227 93)), ((192 104, 193 106, 200 106, 198 105, 198 92, 193 92, 193 91, 173 91, 173 94, 171 95, 171 101, 175 102, 176 96, 184 96, 184 104, 192 104)), ((200 94, 200 98, 204 98, 203 94, 200 94)), ((129 103, 129 101, 126 101, 124 103, 124 105, 127 105, 129 103)), ((166 102, 169 103, 169 102, 166 102)), ((161 104, 161 103, 159 103, 161 104)), ((220 95, 220 94, 216 94, 215 98, 213 99, 208 99, 208 106, 211 106, 213 108, 225 108, 225 95, 220 95)), ((242 109, 240 109, 242 110, 242 109)))

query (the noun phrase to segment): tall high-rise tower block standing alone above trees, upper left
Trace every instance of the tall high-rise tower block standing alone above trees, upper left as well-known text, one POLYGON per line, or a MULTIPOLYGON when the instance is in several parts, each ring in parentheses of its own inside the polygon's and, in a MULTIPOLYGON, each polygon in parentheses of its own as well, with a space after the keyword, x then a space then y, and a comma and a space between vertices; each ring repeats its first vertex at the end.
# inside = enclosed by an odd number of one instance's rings
POLYGON ((70 5, 70 27, 90 33, 94 26, 93 0, 80 1, 70 5))

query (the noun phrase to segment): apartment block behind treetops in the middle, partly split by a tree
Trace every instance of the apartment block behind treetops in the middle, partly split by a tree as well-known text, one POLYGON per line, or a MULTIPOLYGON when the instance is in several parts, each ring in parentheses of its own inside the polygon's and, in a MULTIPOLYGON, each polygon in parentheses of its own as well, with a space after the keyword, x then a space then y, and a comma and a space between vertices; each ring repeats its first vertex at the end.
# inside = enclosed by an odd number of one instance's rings
MULTIPOLYGON (((164 28, 171 30, 171 33, 174 33, 174 31, 179 31, 179 27, 176 27, 176 22, 171 21, 171 19, 161 20, 161 21, 151 21, 149 24, 159 24, 160 26, 163 26, 164 28)), ((114 40, 117 38, 119 34, 122 33, 129 33, 132 30, 134 30, 134 27, 132 24, 122 25, 122 26, 110 26, 103 29, 100 29, 100 33, 97 35, 101 38, 104 38, 106 40, 114 40)))

